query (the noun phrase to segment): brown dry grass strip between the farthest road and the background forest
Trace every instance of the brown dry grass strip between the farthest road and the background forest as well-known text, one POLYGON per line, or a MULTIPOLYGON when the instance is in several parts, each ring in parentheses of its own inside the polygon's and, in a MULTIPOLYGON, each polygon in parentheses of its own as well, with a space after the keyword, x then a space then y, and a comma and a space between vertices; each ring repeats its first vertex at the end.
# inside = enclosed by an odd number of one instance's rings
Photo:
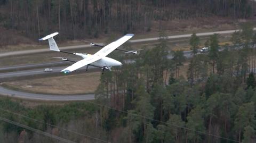
MULTIPOLYGON (((171 20, 171 21, 162 21, 162 24, 166 28, 165 32, 169 35, 179 35, 185 33, 192 32, 209 32, 215 30, 230 30, 236 29, 237 23, 234 20, 214 17, 214 18, 197 18, 190 20, 171 20), (217 20, 214 20, 217 19, 217 20)), ((157 29, 158 21, 153 22, 153 27, 155 29, 151 29, 150 32, 142 32, 136 33, 134 39, 141 38, 149 38, 149 37, 157 37, 159 35, 159 30, 157 29)), ((29 39, 19 31, 15 30, 7 30, 5 28, 0 27, 0 32, 4 33, 0 38, 0 52, 10 52, 10 51, 20 51, 20 50, 28 50, 28 49, 41 49, 46 48, 45 43, 38 43, 35 39, 29 39), (43 45, 42 45, 43 44, 43 45)), ((111 35, 115 35, 111 33, 111 35)), ((89 44, 90 42, 94 43, 103 43, 107 40, 106 37, 110 37, 111 35, 102 34, 98 38, 86 38, 86 39, 77 39, 77 40, 65 40, 58 41, 56 38, 58 45, 61 46, 74 46, 74 45, 83 45, 89 44)), ((42 35, 43 36, 43 35, 42 35)), ((118 35, 119 36, 119 35, 118 35)), ((116 36, 116 37, 118 37, 116 36)))

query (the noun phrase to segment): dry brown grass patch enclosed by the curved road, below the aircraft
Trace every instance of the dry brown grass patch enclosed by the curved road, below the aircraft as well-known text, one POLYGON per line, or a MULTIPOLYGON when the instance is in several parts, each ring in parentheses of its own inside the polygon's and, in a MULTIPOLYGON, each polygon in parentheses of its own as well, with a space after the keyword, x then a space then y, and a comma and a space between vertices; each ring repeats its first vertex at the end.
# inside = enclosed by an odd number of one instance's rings
POLYGON ((86 94, 94 92, 97 88, 100 75, 100 72, 91 72, 4 83, 21 90, 45 94, 86 94))

